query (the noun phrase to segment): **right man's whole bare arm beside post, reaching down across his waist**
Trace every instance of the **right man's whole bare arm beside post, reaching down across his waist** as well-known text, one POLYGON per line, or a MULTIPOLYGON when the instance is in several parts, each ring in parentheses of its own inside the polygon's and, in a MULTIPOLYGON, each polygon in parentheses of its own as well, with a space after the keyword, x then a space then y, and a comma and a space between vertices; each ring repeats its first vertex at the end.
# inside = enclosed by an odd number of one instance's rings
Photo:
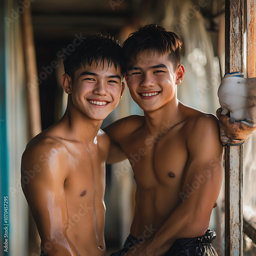
POLYGON ((218 122, 213 116, 200 117, 189 129, 193 133, 187 139, 189 158, 181 203, 152 239, 127 255, 164 255, 175 240, 200 237, 209 226, 223 178, 218 122))

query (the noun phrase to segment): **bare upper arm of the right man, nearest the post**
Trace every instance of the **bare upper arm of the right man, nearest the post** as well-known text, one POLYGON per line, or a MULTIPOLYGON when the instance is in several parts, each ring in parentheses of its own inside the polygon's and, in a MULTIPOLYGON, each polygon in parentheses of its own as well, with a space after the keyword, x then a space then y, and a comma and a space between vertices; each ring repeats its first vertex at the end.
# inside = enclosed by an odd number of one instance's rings
POLYGON ((188 141, 189 158, 182 193, 198 210, 211 212, 222 185, 223 146, 215 119, 203 120, 194 129, 196 132, 188 141))

